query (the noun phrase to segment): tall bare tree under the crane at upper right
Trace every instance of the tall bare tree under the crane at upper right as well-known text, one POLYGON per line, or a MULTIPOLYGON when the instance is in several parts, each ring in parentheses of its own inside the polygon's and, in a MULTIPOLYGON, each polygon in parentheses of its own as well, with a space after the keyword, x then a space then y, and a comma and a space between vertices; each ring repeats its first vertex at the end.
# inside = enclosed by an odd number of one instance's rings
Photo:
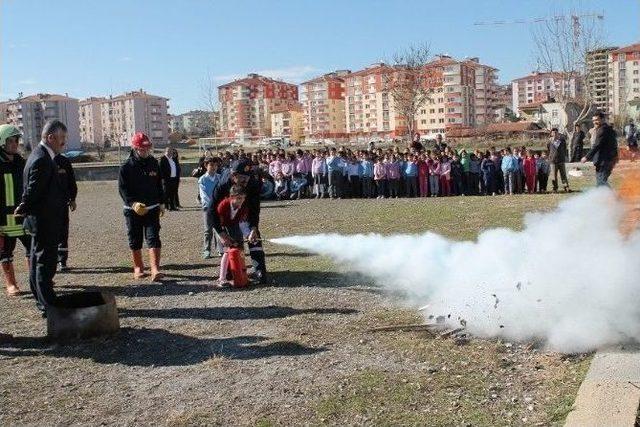
POLYGON ((577 12, 556 13, 537 23, 532 30, 534 57, 541 72, 557 72, 562 75, 559 90, 552 93, 565 111, 575 103, 580 112, 567 123, 567 133, 572 134, 576 123, 584 122, 594 109, 591 77, 587 55, 602 47, 602 16, 577 12), (575 91, 571 82, 575 82, 575 91))

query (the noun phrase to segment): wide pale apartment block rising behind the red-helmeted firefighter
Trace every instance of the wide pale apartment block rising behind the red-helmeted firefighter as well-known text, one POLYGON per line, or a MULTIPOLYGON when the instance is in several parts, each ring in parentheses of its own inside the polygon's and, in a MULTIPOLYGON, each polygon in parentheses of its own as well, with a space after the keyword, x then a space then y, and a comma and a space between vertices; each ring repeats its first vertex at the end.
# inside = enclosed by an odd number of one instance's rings
POLYGON ((88 98, 80 107, 83 142, 100 146, 129 146, 136 132, 144 132, 151 142, 169 140, 168 99, 140 89, 108 98, 88 98))

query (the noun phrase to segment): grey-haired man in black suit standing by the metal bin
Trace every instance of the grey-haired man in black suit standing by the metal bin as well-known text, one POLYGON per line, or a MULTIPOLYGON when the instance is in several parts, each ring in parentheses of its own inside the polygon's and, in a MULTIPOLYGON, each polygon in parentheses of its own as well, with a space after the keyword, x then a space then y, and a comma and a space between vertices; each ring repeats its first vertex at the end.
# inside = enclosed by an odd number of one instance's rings
POLYGON ((55 302, 53 276, 56 274, 58 242, 68 209, 66 190, 58 177, 55 156, 66 144, 67 127, 60 120, 49 120, 42 129, 42 140, 33 148, 24 169, 24 192, 15 215, 24 216, 24 228, 31 234, 29 281, 37 306, 55 302))

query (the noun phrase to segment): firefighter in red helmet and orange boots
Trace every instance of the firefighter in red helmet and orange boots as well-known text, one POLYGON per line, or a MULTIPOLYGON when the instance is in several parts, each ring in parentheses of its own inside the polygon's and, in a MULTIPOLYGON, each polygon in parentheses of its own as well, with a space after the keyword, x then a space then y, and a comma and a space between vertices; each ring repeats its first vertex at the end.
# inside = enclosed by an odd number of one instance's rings
POLYGON ((164 192, 158 161, 151 155, 147 135, 136 132, 131 138, 131 155, 120 168, 118 188, 124 201, 129 248, 133 259, 133 277, 145 277, 142 243, 149 248, 151 281, 162 279, 160 273, 160 217, 164 215, 164 192))

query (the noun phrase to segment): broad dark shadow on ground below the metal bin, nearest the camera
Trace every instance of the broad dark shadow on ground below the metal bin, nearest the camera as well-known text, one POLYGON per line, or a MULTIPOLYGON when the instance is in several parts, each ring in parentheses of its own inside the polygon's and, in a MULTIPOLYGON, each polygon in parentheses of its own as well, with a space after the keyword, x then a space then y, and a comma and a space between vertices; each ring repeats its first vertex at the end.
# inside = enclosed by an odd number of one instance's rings
POLYGON ((276 356, 305 356, 325 347, 307 347, 292 341, 263 344, 268 337, 195 338, 164 329, 123 328, 108 338, 53 344, 44 337, 14 338, 0 348, 0 356, 51 356, 90 359, 100 364, 127 366, 187 366, 212 357, 236 360, 276 356))

